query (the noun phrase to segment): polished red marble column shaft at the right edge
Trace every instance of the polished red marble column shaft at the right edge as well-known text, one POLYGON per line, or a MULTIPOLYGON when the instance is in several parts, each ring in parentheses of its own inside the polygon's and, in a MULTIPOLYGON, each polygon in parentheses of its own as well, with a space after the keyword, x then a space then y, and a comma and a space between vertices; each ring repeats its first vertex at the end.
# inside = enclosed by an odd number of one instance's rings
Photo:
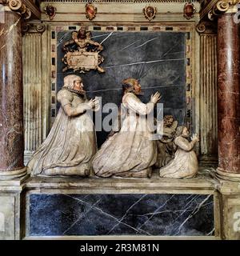
POLYGON ((240 50, 234 14, 218 18, 218 175, 240 178, 240 50))

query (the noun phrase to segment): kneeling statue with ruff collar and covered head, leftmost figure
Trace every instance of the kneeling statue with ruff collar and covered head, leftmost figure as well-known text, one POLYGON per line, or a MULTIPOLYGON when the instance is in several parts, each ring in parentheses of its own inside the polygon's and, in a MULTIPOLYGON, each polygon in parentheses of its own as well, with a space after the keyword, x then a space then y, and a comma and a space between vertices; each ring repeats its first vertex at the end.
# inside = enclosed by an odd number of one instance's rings
POLYGON ((86 98, 82 78, 67 75, 57 94, 61 107, 45 142, 28 163, 32 176, 81 176, 90 174, 97 151, 94 124, 88 110, 98 110, 98 100, 86 98))

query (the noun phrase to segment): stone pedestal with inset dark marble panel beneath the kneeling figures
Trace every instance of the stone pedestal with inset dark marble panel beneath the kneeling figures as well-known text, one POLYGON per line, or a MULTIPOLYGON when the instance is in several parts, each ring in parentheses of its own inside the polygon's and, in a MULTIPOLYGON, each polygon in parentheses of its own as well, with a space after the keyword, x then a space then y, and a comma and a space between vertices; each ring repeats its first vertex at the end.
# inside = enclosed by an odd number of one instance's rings
MULTIPOLYGON (((26 236, 219 238, 218 182, 159 178, 30 178, 26 236)), ((24 193, 25 194, 25 193, 24 193)))

